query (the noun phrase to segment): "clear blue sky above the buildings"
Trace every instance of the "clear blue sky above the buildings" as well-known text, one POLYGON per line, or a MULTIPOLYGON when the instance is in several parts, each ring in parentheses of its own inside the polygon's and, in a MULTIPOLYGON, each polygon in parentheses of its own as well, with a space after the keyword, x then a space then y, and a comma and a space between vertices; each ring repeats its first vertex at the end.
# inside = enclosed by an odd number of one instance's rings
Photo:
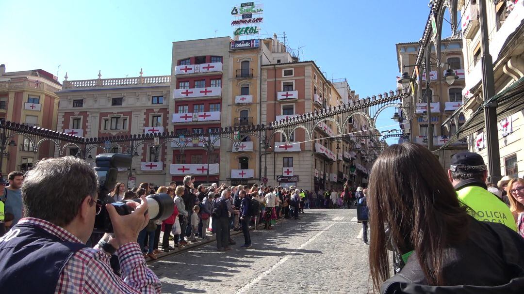
MULTIPOLYGON (((239 1, 0 2, 7 71, 43 69, 63 80, 168 75, 171 42, 232 36, 239 1)), ((395 44, 418 41, 428 1, 264 1, 260 38, 277 33, 326 77, 347 78, 361 97, 396 87, 395 44)), ((443 37, 447 37, 443 33, 443 37)), ((391 125, 383 112, 380 125, 391 125)), ((386 128, 387 129, 387 128, 386 128)))

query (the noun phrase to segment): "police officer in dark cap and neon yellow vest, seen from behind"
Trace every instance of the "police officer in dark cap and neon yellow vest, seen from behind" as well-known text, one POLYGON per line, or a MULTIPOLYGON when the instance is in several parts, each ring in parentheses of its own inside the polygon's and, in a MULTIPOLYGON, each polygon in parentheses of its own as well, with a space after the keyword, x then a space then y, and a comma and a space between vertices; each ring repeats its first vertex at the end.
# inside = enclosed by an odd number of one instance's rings
POLYGON ((461 202, 473 210, 470 213, 475 219, 502 223, 517 231, 506 203, 487 190, 487 167, 481 155, 467 151, 453 155, 447 176, 461 202))

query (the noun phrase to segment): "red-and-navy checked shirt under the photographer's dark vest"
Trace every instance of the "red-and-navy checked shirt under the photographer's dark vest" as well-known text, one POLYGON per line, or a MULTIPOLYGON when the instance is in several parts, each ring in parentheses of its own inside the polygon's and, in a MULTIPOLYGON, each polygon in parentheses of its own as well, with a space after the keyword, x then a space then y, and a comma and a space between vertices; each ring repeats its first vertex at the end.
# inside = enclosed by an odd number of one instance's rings
MULTIPOLYGON (((24 218, 18 223, 36 225, 64 241, 82 243, 67 230, 45 220, 24 218)), ((120 246, 116 255, 122 277, 113 273, 110 256, 98 246, 77 251, 60 273, 55 293, 160 293, 160 280, 147 268, 138 243, 120 246)))

